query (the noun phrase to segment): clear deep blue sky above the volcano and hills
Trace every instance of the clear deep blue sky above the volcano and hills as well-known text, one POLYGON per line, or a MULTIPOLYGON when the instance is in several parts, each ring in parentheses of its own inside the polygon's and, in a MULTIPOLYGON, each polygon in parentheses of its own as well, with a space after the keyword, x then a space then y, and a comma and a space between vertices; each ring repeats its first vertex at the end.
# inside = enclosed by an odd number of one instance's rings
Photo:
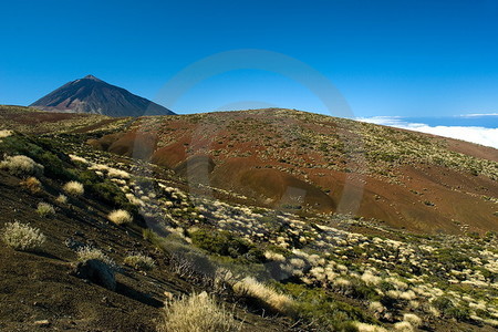
MULTIPOLYGON (((93 74, 151 100, 189 64, 260 49, 329 77, 356 116, 498 112, 498 1, 2 1, 0 103, 27 105, 93 74)), ((279 73, 238 70, 174 111, 324 112, 279 73), (243 103, 249 101, 251 103, 243 103)))

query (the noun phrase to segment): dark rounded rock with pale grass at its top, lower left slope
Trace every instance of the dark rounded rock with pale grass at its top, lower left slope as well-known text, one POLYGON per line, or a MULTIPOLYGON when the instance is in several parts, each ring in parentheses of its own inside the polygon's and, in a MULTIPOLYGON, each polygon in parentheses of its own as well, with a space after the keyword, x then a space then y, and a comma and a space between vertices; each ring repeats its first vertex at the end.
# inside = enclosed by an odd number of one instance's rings
POLYGON ((90 280, 108 290, 116 290, 116 279, 113 269, 101 260, 89 259, 79 262, 74 268, 73 274, 77 278, 90 280))

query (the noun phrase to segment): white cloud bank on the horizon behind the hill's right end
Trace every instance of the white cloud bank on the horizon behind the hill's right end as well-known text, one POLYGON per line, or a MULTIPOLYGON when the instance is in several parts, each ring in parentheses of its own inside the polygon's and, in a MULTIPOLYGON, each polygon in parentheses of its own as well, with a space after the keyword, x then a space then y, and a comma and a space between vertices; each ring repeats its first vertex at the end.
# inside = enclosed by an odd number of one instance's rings
MULTIPOLYGON (((477 114, 474 116, 477 116, 477 114)), ((385 126, 467 141, 498 148, 498 128, 485 128, 476 126, 429 126, 424 123, 408 123, 403 121, 403 117, 396 116, 361 117, 357 120, 385 126)))

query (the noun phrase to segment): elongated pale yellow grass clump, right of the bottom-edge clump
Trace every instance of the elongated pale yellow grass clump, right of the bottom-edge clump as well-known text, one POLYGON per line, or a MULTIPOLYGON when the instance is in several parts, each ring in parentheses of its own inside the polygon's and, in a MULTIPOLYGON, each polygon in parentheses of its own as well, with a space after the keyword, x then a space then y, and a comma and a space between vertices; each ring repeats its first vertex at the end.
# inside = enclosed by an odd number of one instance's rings
POLYGON ((274 289, 257 281, 255 278, 246 277, 234 284, 234 291, 238 295, 249 295, 259 299, 269 308, 281 313, 292 313, 294 300, 277 292, 274 289))

